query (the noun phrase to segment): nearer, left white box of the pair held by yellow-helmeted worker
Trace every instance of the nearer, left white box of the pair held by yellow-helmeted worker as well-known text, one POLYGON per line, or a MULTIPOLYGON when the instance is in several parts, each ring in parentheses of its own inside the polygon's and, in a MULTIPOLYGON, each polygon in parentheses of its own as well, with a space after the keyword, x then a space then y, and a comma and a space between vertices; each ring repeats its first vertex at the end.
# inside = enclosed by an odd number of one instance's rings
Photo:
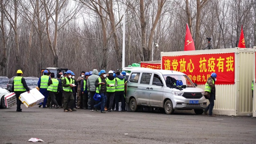
POLYGON ((28 94, 28 92, 24 92, 19 96, 19 100, 28 108, 36 105, 37 100, 34 98, 32 94, 28 94))

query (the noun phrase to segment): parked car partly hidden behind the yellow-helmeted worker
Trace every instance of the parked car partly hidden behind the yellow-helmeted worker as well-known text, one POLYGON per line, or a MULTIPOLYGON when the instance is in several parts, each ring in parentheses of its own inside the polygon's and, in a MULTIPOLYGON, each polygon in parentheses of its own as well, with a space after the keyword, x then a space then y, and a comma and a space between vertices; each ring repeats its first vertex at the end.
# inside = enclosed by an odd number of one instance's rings
MULTIPOLYGON (((15 76, 16 77, 16 76, 15 76)), ((13 82, 14 77, 10 78, 8 84, 7 84, 7 90, 9 92, 12 92, 12 82, 13 82)), ((24 77, 26 80, 27 86, 30 89, 36 88, 37 87, 37 82, 39 80, 38 77, 24 77)))

